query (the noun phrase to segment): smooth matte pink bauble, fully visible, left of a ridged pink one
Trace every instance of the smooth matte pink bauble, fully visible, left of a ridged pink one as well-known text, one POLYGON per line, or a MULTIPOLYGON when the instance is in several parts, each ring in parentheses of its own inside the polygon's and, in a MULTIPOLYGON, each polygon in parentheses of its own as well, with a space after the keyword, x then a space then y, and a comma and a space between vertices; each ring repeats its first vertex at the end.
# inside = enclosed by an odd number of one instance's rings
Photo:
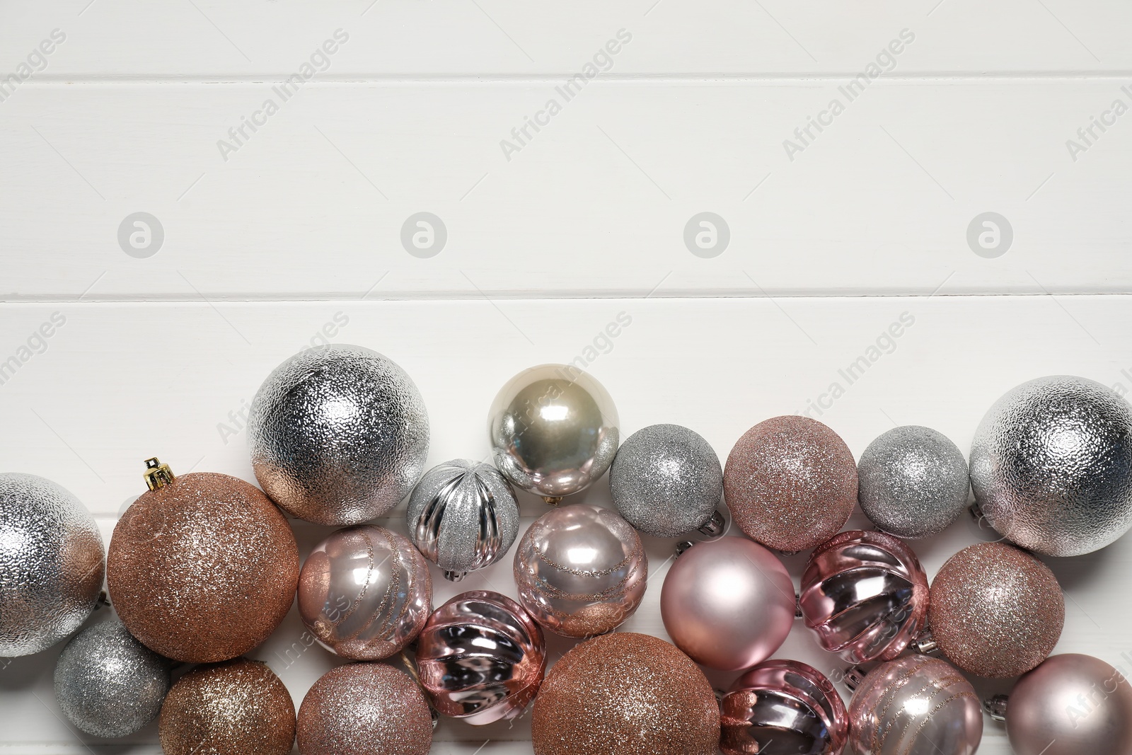
POLYGON ((685 551, 664 577, 660 615, 692 660, 736 671, 766 660, 790 633, 794 583, 782 561, 746 538, 685 551))

